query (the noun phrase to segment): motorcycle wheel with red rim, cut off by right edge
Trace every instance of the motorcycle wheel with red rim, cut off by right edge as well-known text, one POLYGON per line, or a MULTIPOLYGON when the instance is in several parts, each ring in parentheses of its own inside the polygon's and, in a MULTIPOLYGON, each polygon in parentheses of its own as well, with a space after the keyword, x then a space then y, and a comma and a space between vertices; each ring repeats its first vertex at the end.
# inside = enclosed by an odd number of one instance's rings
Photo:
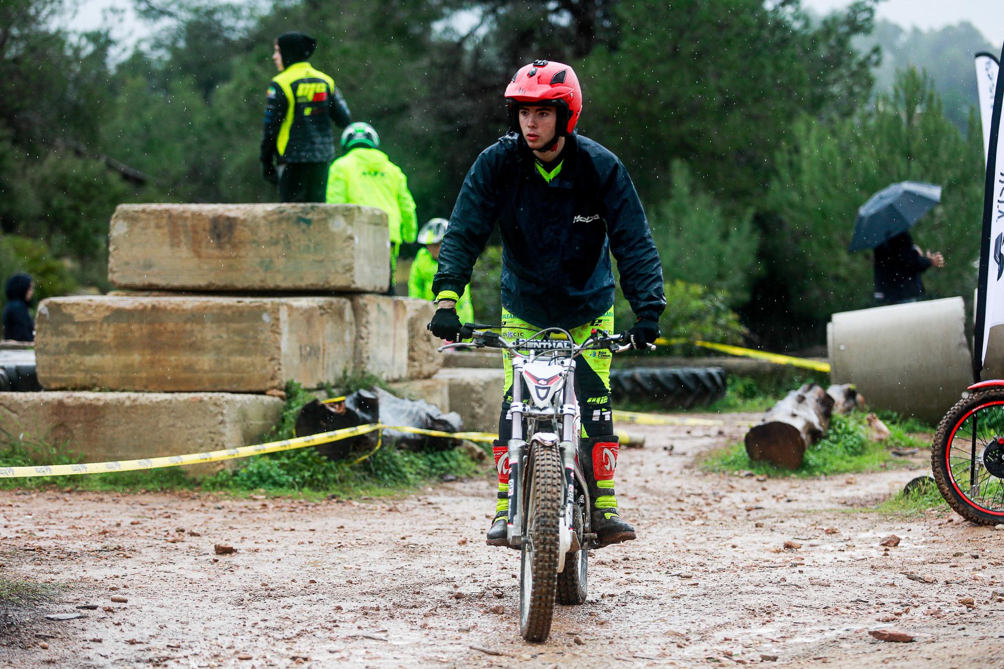
POLYGON ((1004 522, 1004 389, 960 400, 942 419, 931 468, 945 501, 967 520, 1004 522))

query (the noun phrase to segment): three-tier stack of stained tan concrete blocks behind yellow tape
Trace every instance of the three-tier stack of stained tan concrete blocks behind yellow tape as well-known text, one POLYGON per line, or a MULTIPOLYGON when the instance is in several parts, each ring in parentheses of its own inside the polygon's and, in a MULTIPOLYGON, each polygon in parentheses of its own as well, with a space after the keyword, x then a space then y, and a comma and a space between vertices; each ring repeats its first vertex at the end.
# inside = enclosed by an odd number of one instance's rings
POLYGON ((289 380, 429 379, 434 306, 374 294, 389 249, 387 216, 367 207, 120 206, 108 278, 140 292, 44 300, 50 392, 0 398, 0 421, 87 461, 130 459, 254 443, 289 380))

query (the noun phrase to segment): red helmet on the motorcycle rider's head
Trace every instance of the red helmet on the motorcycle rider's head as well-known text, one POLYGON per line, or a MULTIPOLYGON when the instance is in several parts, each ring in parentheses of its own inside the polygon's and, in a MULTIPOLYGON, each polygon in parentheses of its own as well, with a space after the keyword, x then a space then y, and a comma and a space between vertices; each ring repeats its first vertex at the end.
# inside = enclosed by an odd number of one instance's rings
POLYGON ((505 88, 505 99, 509 102, 509 125, 517 133, 516 109, 520 106, 553 105, 558 136, 571 135, 582 114, 582 88, 575 70, 560 62, 534 60, 520 67, 505 88))

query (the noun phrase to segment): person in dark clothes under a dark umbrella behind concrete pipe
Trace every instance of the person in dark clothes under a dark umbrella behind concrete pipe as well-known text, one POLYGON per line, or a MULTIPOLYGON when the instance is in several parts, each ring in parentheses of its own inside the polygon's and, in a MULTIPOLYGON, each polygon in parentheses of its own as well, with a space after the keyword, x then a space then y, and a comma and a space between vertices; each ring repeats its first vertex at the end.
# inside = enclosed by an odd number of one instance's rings
POLYGON ((924 252, 910 236, 910 228, 941 202, 941 191, 932 184, 893 184, 857 210, 848 250, 874 249, 874 298, 880 305, 923 299, 921 274, 945 266, 940 252, 924 252))

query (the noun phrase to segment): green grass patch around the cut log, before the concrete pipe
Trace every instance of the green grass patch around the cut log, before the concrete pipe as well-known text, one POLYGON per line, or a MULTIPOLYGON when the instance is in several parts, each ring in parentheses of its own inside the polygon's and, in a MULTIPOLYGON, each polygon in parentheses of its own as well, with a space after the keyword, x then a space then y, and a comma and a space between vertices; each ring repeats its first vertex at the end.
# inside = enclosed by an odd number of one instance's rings
POLYGON ((887 423, 891 435, 886 441, 872 441, 868 438, 864 416, 862 413, 834 415, 829 430, 805 451, 798 469, 754 462, 746 454, 746 446, 742 443, 708 453, 700 466, 705 471, 713 472, 752 471, 765 476, 814 477, 876 471, 909 464, 894 456, 890 449, 919 448, 922 444, 899 423, 887 423))

